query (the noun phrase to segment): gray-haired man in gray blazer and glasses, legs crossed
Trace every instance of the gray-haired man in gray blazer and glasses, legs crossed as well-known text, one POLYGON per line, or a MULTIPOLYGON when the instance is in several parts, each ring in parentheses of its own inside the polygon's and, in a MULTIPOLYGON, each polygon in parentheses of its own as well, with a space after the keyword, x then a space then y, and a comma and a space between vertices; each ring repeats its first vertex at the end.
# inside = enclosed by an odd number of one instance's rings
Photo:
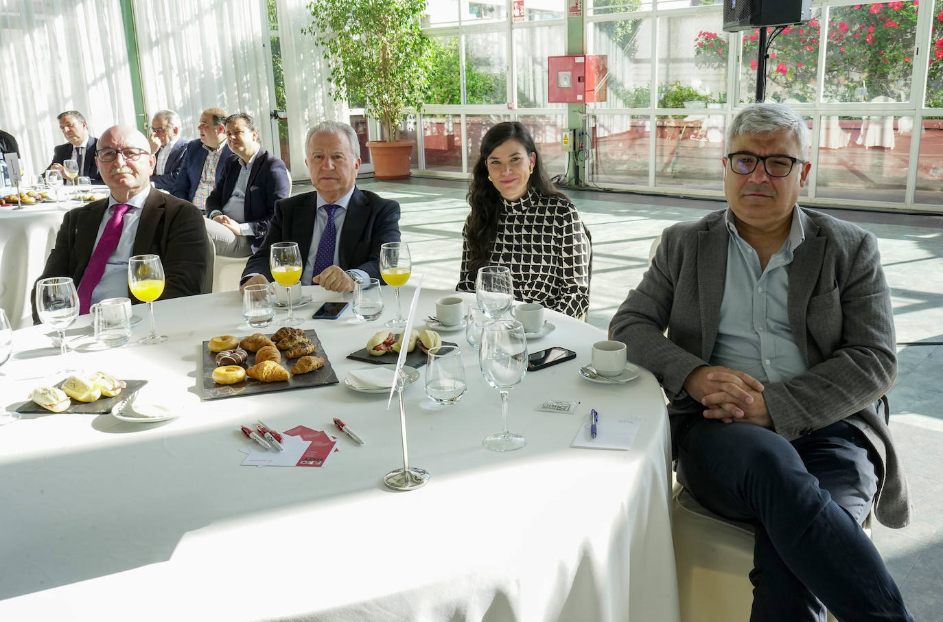
POLYGON ((727 210, 665 230, 609 327, 670 397, 678 479, 755 526, 752 620, 912 620, 860 528, 910 522, 883 397, 897 375, 874 236, 800 208, 809 132, 753 104, 727 129, 727 210), (667 336, 664 332, 667 328, 667 336))

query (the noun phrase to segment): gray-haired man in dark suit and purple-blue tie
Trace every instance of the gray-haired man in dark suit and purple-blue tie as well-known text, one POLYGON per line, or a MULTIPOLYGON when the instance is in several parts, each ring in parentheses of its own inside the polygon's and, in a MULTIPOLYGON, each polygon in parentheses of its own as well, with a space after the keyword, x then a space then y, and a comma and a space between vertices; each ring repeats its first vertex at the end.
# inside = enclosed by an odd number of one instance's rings
POLYGON ((272 244, 297 242, 305 263, 302 284, 353 292, 355 279, 380 277, 380 245, 400 240, 400 204, 354 185, 360 168, 354 128, 323 121, 308 130, 305 145, 316 192, 275 204, 265 242, 242 273, 242 287, 272 280, 272 244))

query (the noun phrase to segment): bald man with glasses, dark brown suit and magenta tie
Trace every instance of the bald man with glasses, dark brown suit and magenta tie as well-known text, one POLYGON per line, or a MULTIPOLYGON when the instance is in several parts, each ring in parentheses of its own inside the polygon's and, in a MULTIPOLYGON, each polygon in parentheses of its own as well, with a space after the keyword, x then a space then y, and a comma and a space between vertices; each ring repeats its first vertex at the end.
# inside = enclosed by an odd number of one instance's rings
MULTIPOLYGON (((154 254, 164 267, 161 299, 201 294, 204 218, 187 201, 151 188, 154 156, 147 138, 134 127, 109 127, 98 141, 97 160, 111 194, 65 214, 40 279, 72 277, 79 311, 88 313, 104 298, 136 301, 127 286, 128 259, 154 254)), ((38 323, 35 296, 30 298, 38 323)))

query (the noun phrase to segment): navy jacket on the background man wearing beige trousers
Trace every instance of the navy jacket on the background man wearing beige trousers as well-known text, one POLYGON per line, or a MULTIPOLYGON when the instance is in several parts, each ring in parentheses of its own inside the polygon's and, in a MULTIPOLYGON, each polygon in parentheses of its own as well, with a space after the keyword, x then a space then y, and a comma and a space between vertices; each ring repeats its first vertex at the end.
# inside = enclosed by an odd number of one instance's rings
MULTIPOLYGON (((242 170, 242 160, 233 154, 220 168, 223 169, 223 177, 219 178, 216 188, 207 198, 207 218, 212 218, 214 211, 223 211, 223 206, 232 197, 242 170)), ((245 188, 243 221, 252 227, 255 234, 251 241, 253 251, 258 249, 269 231, 269 222, 275 213, 275 201, 288 198, 290 192, 289 172, 285 168, 285 162, 259 147, 256 160, 252 160, 249 182, 245 188)))

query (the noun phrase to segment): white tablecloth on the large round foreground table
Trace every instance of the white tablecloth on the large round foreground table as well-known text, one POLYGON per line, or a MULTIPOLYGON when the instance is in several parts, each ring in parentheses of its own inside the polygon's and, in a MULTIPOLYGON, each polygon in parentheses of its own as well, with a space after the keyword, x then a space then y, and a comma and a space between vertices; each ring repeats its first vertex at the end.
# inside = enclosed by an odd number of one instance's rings
MULTIPOLYGON (((319 299, 340 297, 307 291, 316 302, 299 310, 306 317, 319 299)), ((423 293, 422 317, 442 294, 423 293)), ((392 315, 385 296, 381 321, 392 315)), ((663 398, 648 372, 618 386, 577 376, 604 338, 598 328, 548 315, 556 330, 531 349, 565 345, 577 358, 529 373, 511 392, 510 429, 528 444, 507 454, 481 445, 501 427, 498 393, 464 333, 446 333, 462 345, 469 392, 437 407, 422 379, 406 389, 410 463, 432 479, 395 493, 382 483, 403 463, 395 400, 387 412, 385 395, 341 383, 201 401, 201 342, 251 332, 240 326, 239 294, 155 310, 165 344, 70 356, 149 379, 141 399, 174 404, 180 418, 50 413, 0 427, 0 619, 678 619, 663 398), (536 412, 548 398, 581 404, 574 414, 536 412), (632 450, 571 448, 589 408, 640 418, 632 450), (366 445, 340 435, 321 468, 240 465, 240 424, 333 433, 334 416, 366 445)), ((345 311, 305 328, 317 330, 342 379, 365 364, 345 356, 382 326, 345 311)), ((5 406, 62 365, 40 328, 17 331, 14 347, 0 367, 5 406)))

